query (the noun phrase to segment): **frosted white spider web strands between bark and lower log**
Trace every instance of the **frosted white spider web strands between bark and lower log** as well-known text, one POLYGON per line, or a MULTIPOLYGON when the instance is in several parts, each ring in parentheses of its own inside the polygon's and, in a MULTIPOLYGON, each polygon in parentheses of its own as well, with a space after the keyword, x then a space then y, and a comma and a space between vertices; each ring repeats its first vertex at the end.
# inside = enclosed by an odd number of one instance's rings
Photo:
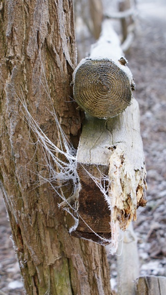
MULTIPOLYGON (((42 64, 42 61, 41 61, 42 64)), ((49 89, 42 65, 43 75, 45 78, 46 86, 43 85, 48 98, 51 101, 52 99, 49 94, 49 89)), ((40 79, 41 81, 41 79, 40 79)), ((41 82, 42 83, 42 82, 41 82)), ((78 221, 81 219, 86 226, 89 227, 91 232, 95 234, 99 240, 100 244, 104 245, 104 243, 110 243, 111 246, 111 252, 112 254, 115 254, 118 246, 118 228, 116 225, 112 224, 110 227, 114 229, 114 234, 112 239, 106 239, 95 233, 95 231, 86 223, 84 219, 81 218, 81 216, 78 214, 77 209, 73 208, 71 204, 68 202, 68 200, 65 198, 63 193, 63 186, 67 185, 69 182, 72 181, 73 184, 73 191, 71 193, 71 196, 76 193, 76 191, 79 193, 80 184, 79 184, 79 177, 77 173, 77 151, 74 149, 72 144, 69 142, 68 138, 66 137, 63 129, 61 128, 61 125, 59 123, 59 120, 57 118, 56 112, 53 108, 52 104, 52 111, 50 113, 54 117, 54 120, 57 124, 57 130, 58 130, 58 141, 60 142, 60 147, 55 145, 47 136, 46 134, 41 130, 38 123, 34 120, 33 116, 29 112, 26 106, 26 101, 24 98, 23 92, 20 93, 20 97, 16 94, 17 98, 21 102, 21 110, 25 117, 25 120, 29 124, 29 128, 34 132, 36 135, 37 141, 34 143, 36 146, 40 145, 42 147, 42 150, 44 152, 44 157, 46 161, 46 166, 48 170, 48 177, 44 177, 42 175, 38 175, 40 177, 40 185, 42 183, 48 182, 50 184, 50 187, 56 192, 56 194, 64 201, 66 202, 66 207, 64 208, 74 219, 75 224, 69 229, 69 233, 71 233, 73 230, 76 230, 78 221), (62 160, 65 158, 65 160, 62 160), (56 170, 55 170, 56 166, 56 170)), ((38 147, 37 147, 38 148, 38 147)), ((82 165, 84 167, 84 165, 82 165)), ((85 169, 85 167, 84 167, 85 169)), ((99 168, 98 168, 99 169, 99 168)), ((100 173, 100 178, 94 177, 92 174, 90 174, 86 169, 85 171, 88 173, 88 175, 93 179, 93 181, 96 183, 96 185, 100 188, 100 191, 105 198, 108 207, 110 209, 110 215, 111 215, 111 209, 112 206, 110 205, 110 200, 108 198, 108 185, 106 185, 106 182, 108 182, 108 176, 105 176, 100 173)), ((110 222, 111 223, 111 222, 110 222)))

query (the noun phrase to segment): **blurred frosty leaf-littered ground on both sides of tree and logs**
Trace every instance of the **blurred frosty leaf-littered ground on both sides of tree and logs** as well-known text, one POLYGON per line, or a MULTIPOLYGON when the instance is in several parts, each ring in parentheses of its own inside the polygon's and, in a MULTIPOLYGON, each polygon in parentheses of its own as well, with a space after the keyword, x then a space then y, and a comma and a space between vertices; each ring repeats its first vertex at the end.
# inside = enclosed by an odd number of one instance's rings
MULTIPOLYGON (((136 34, 126 57, 135 78, 134 96, 141 110, 148 204, 139 213, 134 227, 140 275, 166 276, 166 3, 139 0, 137 8, 136 34)), ((0 203, 0 294, 23 295, 2 198, 0 203)), ((109 257, 109 261, 115 284, 116 258, 109 257)))

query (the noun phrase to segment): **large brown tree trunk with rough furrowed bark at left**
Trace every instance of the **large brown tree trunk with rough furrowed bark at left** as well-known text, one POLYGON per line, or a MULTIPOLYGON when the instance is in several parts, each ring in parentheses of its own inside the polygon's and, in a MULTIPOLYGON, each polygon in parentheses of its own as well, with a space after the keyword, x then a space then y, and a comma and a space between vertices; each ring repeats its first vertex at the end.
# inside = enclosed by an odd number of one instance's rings
POLYGON ((59 198, 40 183, 48 173, 45 153, 19 100, 58 145, 53 104, 77 146, 82 115, 70 99, 76 65, 72 1, 9 0, 1 3, 0 17, 0 179, 26 293, 110 294, 104 247, 71 237, 59 198))

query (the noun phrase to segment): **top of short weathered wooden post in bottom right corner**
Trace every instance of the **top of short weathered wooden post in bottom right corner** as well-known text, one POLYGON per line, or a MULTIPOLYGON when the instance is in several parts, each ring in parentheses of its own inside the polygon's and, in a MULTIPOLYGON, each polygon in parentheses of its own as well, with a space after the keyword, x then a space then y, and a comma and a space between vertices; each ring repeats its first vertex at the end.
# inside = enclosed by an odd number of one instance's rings
POLYGON ((146 276, 135 282, 136 295, 165 295, 166 278, 146 276))

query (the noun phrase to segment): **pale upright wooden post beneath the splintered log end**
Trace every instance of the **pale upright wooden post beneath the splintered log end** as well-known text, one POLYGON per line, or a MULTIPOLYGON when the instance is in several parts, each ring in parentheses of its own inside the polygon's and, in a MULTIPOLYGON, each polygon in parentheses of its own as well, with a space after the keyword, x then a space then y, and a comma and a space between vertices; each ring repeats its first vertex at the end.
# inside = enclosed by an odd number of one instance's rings
POLYGON ((134 295, 134 281, 139 277, 139 254, 132 222, 121 235, 117 251, 118 295, 134 295))

